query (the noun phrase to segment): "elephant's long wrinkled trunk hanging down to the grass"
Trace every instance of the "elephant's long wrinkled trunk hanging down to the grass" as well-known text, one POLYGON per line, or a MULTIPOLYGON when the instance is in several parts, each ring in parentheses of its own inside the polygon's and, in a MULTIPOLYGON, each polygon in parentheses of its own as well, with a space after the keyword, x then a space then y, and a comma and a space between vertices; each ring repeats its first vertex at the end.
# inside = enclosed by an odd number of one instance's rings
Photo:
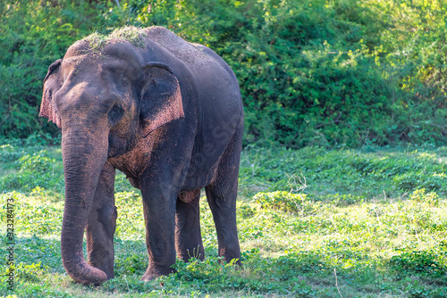
POLYGON ((84 229, 101 170, 105 166, 108 139, 89 129, 63 129, 65 207, 61 235, 63 267, 75 281, 99 285, 104 271, 90 266, 82 253, 84 229))

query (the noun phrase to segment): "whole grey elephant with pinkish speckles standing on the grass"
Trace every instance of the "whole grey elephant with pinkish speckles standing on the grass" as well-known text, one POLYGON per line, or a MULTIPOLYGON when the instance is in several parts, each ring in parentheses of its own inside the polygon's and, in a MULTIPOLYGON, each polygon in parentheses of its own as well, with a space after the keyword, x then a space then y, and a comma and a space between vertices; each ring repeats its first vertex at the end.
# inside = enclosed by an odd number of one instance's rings
POLYGON ((115 170, 141 191, 148 247, 141 280, 172 273, 176 256, 203 260, 202 188, 219 255, 240 263, 244 113, 238 80, 214 51, 163 27, 92 34, 49 66, 39 116, 62 129, 61 254, 76 282, 114 277, 115 170))

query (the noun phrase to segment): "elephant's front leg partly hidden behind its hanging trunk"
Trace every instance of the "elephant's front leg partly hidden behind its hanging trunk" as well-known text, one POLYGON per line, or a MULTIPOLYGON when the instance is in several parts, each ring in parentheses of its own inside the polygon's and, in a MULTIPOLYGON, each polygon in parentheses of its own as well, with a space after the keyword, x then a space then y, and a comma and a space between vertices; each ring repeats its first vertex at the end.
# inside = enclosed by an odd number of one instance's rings
POLYGON ((106 162, 87 219, 89 264, 101 269, 107 279, 114 278, 114 231, 117 211, 114 206, 114 167, 106 162))

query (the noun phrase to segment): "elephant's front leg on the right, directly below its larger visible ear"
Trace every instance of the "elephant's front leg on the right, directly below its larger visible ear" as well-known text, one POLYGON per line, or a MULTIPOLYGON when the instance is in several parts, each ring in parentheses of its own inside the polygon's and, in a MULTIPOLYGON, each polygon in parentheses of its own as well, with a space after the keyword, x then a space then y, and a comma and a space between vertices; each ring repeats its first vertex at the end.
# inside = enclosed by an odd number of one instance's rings
POLYGON ((149 265, 141 280, 152 280, 174 271, 175 200, 173 187, 142 186, 143 212, 149 265))

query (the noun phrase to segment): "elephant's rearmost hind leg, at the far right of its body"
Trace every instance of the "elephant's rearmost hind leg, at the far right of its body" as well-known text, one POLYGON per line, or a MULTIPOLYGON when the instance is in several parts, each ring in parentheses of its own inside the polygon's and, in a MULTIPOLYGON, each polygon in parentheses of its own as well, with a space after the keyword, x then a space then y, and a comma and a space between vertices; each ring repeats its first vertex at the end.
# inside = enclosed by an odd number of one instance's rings
POLYGON ((241 131, 237 131, 219 161, 214 181, 205 187, 207 201, 215 220, 219 255, 227 262, 240 259, 236 225, 240 150, 241 131))

